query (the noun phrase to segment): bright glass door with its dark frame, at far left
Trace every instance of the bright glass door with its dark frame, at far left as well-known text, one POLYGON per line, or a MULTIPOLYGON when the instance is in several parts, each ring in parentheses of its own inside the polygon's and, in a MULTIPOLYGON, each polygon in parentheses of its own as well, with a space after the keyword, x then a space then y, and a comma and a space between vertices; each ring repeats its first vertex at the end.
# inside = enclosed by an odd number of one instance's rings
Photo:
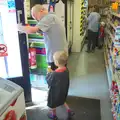
POLYGON ((26 35, 18 33, 18 22, 24 23, 23 1, 0 1, 0 77, 23 87, 31 101, 26 35))

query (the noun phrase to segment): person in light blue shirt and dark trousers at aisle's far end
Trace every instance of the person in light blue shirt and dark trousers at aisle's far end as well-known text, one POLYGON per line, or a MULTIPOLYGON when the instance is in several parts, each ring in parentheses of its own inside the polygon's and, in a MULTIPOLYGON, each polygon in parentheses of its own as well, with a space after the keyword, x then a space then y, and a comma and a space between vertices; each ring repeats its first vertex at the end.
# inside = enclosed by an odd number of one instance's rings
POLYGON ((94 11, 88 16, 88 46, 87 52, 94 52, 98 40, 100 14, 99 8, 94 7, 94 11))

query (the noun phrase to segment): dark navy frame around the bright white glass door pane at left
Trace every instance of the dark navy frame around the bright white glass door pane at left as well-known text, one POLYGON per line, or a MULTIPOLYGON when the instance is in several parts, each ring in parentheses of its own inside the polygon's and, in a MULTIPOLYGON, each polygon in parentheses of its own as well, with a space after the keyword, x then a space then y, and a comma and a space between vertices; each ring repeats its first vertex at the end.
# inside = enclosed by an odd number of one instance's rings
MULTIPOLYGON (((19 16, 22 24, 25 24, 25 14, 24 14, 24 1, 15 0, 16 5, 16 17, 18 23, 17 11, 21 11, 22 14, 19 16)), ((28 48, 27 48, 27 37, 26 34, 19 34, 19 45, 20 45, 20 55, 21 55, 21 65, 22 65, 22 77, 10 78, 8 80, 20 85, 24 89, 25 101, 32 102, 31 97, 31 84, 30 84, 30 73, 29 73, 29 59, 28 59, 28 48)), ((17 70, 17 68, 16 68, 17 70)))

